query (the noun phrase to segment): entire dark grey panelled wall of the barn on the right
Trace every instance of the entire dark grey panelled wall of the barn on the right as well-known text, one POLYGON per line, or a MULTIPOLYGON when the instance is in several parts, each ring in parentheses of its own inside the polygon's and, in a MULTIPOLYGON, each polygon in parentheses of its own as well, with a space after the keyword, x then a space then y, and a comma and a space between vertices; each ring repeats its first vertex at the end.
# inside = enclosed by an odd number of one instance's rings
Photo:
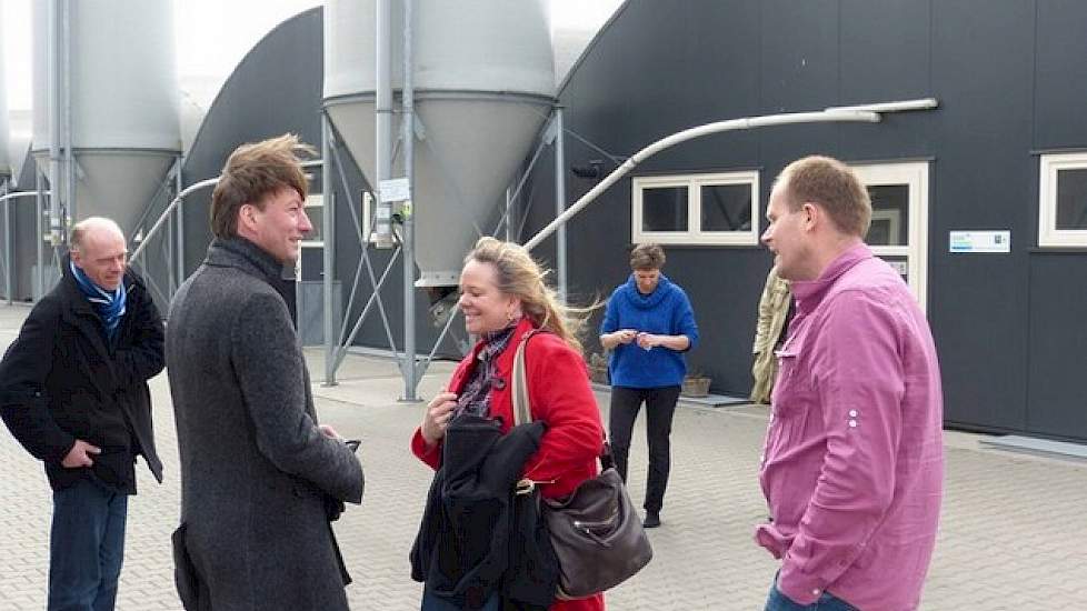
MULTIPOLYGON (((1036 328, 1051 330, 1046 321, 1055 317, 1033 314, 1031 304, 1051 300, 1056 289, 1043 278, 1029 281, 1038 182, 1030 151, 1087 147, 1087 124, 1078 119, 1087 99, 1087 53, 1078 52, 1087 6, 1071 0, 998 6, 983 0, 771 0, 662 7, 628 2, 599 37, 561 93, 567 124, 629 154, 710 119, 938 98, 937 111, 888 114, 877 126, 791 126, 691 142, 650 160, 636 174, 759 168, 761 214, 774 177, 804 154, 847 161, 930 159, 927 306, 944 368, 948 420, 1057 434, 1051 422, 1064 417, 1035 411, 1039 402, 1034 395, 1043 387, 1028 378, 1028 370, 1065 371, 1071 365, 1063 363, 1081 359, 1060 361, 1058 350, 1035 339, 1036 328), (680 27, 687 28, 681 36, 680 27), (705 100, 716 102, 718 117, 707 117, 705 100), (948 232, 955 229, 1010 229, 1014 251, 951 256, 948 232)), ((571 150, 571 163, 600 157, 568 144, 571 150)), ((592 184, 585 182, 569 181, 570 201, 592 184)), ((533 191, 533 204, 545 190, 549 201, 549 189, 533 191)), ((626 276, 629 197, 629 182, 620 182, 571 224, 571 261, 591 261, 572 272, 580 284, 610 290, 617 277, 626 276)), ((538 209, 532 214, 533 227, 549 219, 538 209)), ((666 271, 691 293, 704 331, 692 364, 717 378, 716 390, 746 391, 749 334, 768 256, 756 249, 667 251, 666 271)), ((1051 263, 1051 273, 1074 260, 1051 263)), ((1073 333, 1073 343, 1060 352, 1081 355, 1077 337, 1073 333)), ((1066 399, 1083 394, 1065 390, 1066 399)), ((1044 399, 1051 402, 1053 397, 1044 399)))

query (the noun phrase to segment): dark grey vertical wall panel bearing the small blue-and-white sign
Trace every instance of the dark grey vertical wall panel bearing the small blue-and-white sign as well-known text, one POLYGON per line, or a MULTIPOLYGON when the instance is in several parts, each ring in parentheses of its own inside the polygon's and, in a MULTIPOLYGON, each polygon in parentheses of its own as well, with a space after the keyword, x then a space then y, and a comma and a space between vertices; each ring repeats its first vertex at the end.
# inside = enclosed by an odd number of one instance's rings
POLYGON ((934 4, 929 319, 947 420, 1026 425, 1027 262, 1037 216, 1030 149, 1034 7, 934 4), (1011 229, 1011 254, 949 254, 948 231, 1011 229))

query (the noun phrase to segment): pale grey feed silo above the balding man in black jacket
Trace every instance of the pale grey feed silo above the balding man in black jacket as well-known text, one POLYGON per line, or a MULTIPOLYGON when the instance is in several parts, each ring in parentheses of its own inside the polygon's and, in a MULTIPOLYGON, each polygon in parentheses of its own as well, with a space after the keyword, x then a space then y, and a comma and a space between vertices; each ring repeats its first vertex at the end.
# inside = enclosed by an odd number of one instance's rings
POLYGON ((34 0, 33 36, 34 159, 72 220, 110 217, 131 236, 180 154, 173 3, 34 0), (69 142, 71 173, 50 172, 69 142))

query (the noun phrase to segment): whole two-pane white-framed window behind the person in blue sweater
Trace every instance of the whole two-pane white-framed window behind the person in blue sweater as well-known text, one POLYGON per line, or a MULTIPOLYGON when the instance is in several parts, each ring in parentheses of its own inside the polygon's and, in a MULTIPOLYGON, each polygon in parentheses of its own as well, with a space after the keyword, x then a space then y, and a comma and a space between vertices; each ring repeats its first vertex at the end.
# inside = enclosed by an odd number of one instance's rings
POLYGON ((757 246, 758 172, 634 179, 631 241, 757 246))

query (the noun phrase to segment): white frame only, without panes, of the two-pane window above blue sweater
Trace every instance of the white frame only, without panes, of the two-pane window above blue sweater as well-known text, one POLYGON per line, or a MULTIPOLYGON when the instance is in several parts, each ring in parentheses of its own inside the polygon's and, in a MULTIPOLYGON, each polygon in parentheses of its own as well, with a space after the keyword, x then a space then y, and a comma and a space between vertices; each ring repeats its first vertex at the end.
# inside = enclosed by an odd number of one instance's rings
POLYGON ((707 174, 672 174, 638 177, 631 181, 630 241, 640 244, 695 244, 751 247, 759 243, 759 173, 758 171, 718 172, 707 174), (702 231, 702 187, 748 184, 751 188, 751 229, 746 231, 702 231), (642 223, 642 191, 645 189, 686 187, 687 230, 645 231, 642 223), (699 227, 692 227, 692 226, 699 227))

